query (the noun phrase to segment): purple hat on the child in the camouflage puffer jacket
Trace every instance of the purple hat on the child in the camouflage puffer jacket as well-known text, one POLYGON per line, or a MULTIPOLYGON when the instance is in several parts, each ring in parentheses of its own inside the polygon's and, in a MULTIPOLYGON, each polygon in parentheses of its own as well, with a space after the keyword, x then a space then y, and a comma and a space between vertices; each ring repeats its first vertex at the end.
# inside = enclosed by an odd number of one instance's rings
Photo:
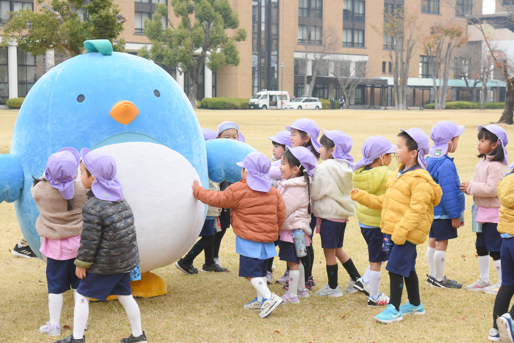
POLYGON ((114 157, 105 151, 89 150, 82 148, 82 163, 95 176, 95 182, 91 186, 93 194, 100 200, 123 200, 123 188, 116 177, 116 161, 114 157))

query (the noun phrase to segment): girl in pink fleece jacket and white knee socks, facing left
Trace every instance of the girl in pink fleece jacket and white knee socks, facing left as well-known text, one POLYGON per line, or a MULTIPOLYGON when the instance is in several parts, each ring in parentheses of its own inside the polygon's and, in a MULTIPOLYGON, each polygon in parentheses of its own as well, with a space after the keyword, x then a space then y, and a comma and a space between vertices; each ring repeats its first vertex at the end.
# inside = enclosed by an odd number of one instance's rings
POLYGON ((461 190, 465 194, 473 195, 474 206, 478 208, 475 221, 482 224, 482 232, 476 232, 475 243, 476 254, 479 256, 480 277, 467 285, 466 290, 497 294, 502 284, 502 238, 497 230, 500 215, 497 185, 507 173, 508 155, 505 146, 508 137, 503 128, 494 124, 486 127, 479 125, 478 131, 480 161, 475 167, 473 178, 462 183, 461 190), (498 282, 494 285, 489 281, 489 256, 494 260, 498 274, 498 282))

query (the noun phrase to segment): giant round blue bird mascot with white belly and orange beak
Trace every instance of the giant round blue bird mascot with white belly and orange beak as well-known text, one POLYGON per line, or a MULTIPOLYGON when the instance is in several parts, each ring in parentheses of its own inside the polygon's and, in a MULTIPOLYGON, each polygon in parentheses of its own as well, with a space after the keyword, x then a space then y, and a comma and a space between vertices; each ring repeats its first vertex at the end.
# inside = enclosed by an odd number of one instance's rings
POLYGON ((25 98, 10 154, 0 155, 0 202, 14 202, 27 242, 44 258, 31 175, 40 177, 63 147, 112 154, 134 211, 142 279, 133 281, 133 294, 166 294, 150 270, 178 260, 198 237, 206 205, 193 197, 193 180, 237 182, 235 163, 255 150, 231 139, 205 142, 188 98, 158 65, 113 52, 107 40, 84 46, 88 53, 51 69, 25 98))

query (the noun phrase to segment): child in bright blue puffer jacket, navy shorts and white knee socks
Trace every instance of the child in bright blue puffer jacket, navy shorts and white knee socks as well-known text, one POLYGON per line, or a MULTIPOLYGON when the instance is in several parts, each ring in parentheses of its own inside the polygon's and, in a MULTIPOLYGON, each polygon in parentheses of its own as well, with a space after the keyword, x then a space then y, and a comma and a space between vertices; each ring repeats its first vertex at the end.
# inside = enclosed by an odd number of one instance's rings
POLYGON ((457 238, 457 228, 464 224, 464 193, 459 188, 461 181, 453 158, 448 156, 448 153, 457 150, 458 136, 463 132, 464 125, 457 126, 448 120, 439 121, 430 132, 434 145, 430 148, 430 157, 427 158, 427 171, 443 190, 441 202, 434 207, 434 221, 428 235, 427 283, 432 287, 462 287, 462 283, 445 276, 445 264, 448 240, 457 238))

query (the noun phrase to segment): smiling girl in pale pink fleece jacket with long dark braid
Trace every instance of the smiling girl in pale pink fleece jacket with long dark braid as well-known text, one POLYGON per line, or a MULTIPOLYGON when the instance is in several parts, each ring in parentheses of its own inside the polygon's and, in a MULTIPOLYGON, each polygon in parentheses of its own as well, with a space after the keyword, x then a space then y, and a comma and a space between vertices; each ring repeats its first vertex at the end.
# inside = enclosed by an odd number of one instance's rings
MULTIPOLYGON (((281 297, 283 302, 299 303, 300 297, 307 298, 305 268, 297 256, 295 237, 292 230, 305 232, 305 245, 311 243, 310 228, 310 182, 316 168, 316 157, 304 147, 297 147, 282 154, 280 171, 282 181, 278 190, 286 205, 286 219, 279 233, 279 258, 289 266, 289 289, 281 297)), ((308 267, 308 266, 306 266, 308 267)))

